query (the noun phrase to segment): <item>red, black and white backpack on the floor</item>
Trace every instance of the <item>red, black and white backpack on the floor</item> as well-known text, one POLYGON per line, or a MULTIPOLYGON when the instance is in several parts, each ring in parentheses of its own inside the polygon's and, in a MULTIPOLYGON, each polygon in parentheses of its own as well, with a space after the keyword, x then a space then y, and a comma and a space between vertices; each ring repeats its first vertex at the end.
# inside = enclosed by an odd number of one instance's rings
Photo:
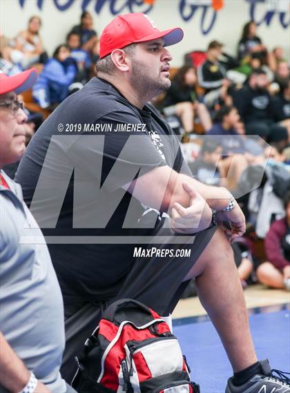
POLYGON ((76 361, 79 393, 200 393, 167 323, 136 300, 106 309, 76 361))

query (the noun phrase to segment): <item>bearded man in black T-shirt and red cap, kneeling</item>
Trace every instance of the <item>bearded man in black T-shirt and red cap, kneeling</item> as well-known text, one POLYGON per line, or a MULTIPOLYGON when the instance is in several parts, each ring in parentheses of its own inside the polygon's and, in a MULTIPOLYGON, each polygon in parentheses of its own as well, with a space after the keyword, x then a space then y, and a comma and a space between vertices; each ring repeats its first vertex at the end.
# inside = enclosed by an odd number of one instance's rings
POLYGON ((148 104, 171 86, 166 47, 182 37, 141 13, 113 19, 99 39, 97 78, 46 119, 16 178, 39 223, 66 243, 58 238, 50 253, 64 295, 67 381, 108 303, 135 298, 168 315, 197 277, 235 372, 227 393, 258 393, 282 382, 255 355, 231 245, 215 225, 229 222, 233 240, 244 215, 228 190, 193 178, 173 131, 148 104))

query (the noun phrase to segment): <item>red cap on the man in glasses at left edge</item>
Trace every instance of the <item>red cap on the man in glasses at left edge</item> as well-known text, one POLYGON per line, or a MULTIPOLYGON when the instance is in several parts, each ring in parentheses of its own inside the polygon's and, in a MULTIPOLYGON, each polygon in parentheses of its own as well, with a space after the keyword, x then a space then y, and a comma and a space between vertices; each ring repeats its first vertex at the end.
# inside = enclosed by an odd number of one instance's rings
POLYGON ((8 77, 8 75, 0 73, 0 94, 5 94, 14 91, 20 94, 32 87, 37 81, 37 70, 30 68, 30 70, 23 71, 16 75, 8 77))

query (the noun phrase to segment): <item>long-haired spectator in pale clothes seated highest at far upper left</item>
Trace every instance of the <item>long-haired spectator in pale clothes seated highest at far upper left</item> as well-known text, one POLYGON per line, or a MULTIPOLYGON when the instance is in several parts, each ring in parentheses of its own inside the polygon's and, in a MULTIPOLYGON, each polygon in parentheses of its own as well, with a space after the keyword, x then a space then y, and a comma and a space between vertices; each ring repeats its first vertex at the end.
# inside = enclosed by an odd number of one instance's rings
POLYGON ((37 16, 30 17, 28 28, 20 32, 16 39, 12 41, 11 47, 7 48, 13 64, 19 64, 23 69, 26 69, 32 64, 47 61, 48 55, 43 48, 39 33, 40 28, 41 19, 37 16))

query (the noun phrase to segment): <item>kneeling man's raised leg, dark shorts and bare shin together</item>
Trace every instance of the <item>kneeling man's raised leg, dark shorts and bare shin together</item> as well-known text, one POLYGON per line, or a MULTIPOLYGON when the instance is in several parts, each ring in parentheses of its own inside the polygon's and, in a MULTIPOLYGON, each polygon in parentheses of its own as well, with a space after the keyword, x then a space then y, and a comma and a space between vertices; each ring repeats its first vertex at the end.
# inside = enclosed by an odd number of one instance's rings
MULTIPOLYGON (((173 247, 170 241, 160 249, 173 247)), ((190 258, 140 258, 118 298, 135 298, 166 316, 173 311, 188 280, 197 277, 200 300, 220 334, 234 372, 244 370, 257 357, 229 240, 221 229, 213 228, 199 233, 193 245, 189 242, 176 247, 191 248, 193 253, 190 258)))

